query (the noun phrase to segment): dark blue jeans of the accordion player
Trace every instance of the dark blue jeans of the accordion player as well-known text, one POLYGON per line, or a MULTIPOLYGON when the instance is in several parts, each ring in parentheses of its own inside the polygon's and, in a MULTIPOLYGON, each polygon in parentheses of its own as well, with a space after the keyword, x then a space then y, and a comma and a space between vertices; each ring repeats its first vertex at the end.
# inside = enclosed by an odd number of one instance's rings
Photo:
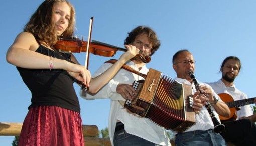
POLYGON ((127 146, 131 146, 131 145, 133 145, 133 146, 134 145, 155 146, 157 144, 147 141, 138 136, 126 133, 126 131, 123 129, 123 130, 119 130, 114 133, 114 146, 120 146, 120 145, 121 146, 125 146, 125 145, 127 145, 127 146))

